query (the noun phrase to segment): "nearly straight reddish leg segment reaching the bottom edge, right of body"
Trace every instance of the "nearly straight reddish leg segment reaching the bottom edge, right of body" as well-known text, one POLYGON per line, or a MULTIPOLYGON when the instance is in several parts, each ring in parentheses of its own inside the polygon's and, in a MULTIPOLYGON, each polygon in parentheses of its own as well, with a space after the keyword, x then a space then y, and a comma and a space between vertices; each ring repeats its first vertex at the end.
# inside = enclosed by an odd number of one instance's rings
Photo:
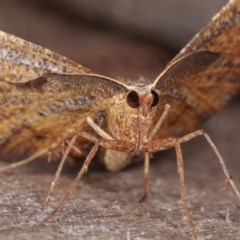
POLYGON ((181 141, 179 141, 179 140, 175 141, 175 151, 176 151, 176 158, 177 158, 177 170, 178 170, 178 174, 179 174, 179 178, 180 178, 181 198, 182 198, 185 214, 187 215, 188 224, 189 224, 189 226, 192 230, 193 238, 197 239, 197 234, 196 234, 195 225, 193 223, 192 214, 191 214, 191 211, 190 211, 190 209, 188 207, 188 203, 187 203, 187 194, 186 194, 185 183, 184 183, 183 157, 182 157, 182 150, 181 150, 180 143, 181 143, 181 141))

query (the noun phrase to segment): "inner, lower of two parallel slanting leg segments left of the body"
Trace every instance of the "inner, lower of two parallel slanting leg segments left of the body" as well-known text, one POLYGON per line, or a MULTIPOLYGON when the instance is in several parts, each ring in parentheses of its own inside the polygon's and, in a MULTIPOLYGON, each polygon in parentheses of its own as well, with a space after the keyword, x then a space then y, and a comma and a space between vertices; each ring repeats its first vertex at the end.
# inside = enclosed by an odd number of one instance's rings
POLYGON ((57 204, 55 209, 50 214, 48 214, 48 216, 44 219, 44 221, 48 221, 58 211, 58 209, 66 202, 68 197, 71 195, 73 190, 76 188, 78 182, 81 180, 82 176, 87 172, 88 166, 91 163, 93 157, 96 155, 98 148, 99 148, 98 144, 95 144, 92 147, 91 151, 89 152, 89 154, 87 155, 87 157, 86 157, 86 159, 83 163, 83 166, 81 167, 81 169, 80 169, 78 175, 76 176, 76 178, 73 180, 73 182, 69 186, 67 192, 65 193, 63 198, 59 201, 59 203, 57 204))

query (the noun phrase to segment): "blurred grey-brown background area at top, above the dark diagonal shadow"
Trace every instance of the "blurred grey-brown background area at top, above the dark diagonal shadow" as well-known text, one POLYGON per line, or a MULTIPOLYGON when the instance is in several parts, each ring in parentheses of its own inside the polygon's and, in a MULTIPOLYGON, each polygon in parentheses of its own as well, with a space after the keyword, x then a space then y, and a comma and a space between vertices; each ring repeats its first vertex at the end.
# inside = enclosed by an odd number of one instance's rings
MULTIPOLYGON (((52 0, 54 1, 54 0, 52 0)), ((227 0, 70 0, 79 14, 181 47, 227 0)))

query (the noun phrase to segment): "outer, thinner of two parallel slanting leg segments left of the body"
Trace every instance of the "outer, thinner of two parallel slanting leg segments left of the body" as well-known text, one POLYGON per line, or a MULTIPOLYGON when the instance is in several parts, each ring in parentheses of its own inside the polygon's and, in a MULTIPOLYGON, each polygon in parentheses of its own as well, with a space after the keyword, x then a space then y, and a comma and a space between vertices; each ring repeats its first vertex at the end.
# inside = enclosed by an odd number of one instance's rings
POLYGON ((68 154, 69 154, 69 152, 71 151, 74 143, 76 142, 77 137, 78 137, 78 134, 75 135, 75 136, 73 136, 73 138, 71 139, 70 143, 68 144, 67 148, 65 149, 65 151, 64 151, 64 153, 63 153, 62 159, 61 159, 61 161, 60 161, 60 163, 59 163, 59 165, 58 165, 57 171, 56 171, 56 173, 55 173, 55 175, 54 175, 54 178, 53 178, 53 180, 52 180, 52 182, 51 182, 51 186, 50 186, 50 188, 49 188, 48 195, 47 195, 47 197, 46 197, 44 207, 47 206, 47 204, 48 204, 48 202, 49 202, 49 200, 50 200, 50 197, 51 197, 51 195, 52 195, 52 192, 53 192, 53 190, 54 190, 54 187, 55 187, 55 185, 56 185, 56 182, 58 181, 59 176, 60 176, 60 174, 61 174, 61 172, 62 172, 63 165, 64 165, 64 163, 66 162, 67 157, 68 157, 68 154))

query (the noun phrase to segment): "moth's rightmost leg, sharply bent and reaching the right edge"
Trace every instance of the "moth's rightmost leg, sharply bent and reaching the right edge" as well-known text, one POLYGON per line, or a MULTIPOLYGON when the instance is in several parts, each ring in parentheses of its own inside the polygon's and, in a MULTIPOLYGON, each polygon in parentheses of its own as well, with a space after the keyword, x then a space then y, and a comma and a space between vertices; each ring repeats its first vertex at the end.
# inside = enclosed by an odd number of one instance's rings
POLYGON ((226 177, 226 182, 229 182, 230 185, 232 186, 233 188, 233 191, 235 192, 238 200, 240 201, 240 192, 234 182, 234 180, 232 179, 232 176, 230 175, 228 169, 227 169, 227 166, 221 156, 221 154, 219 153, 216 145, 214 144, 214 142, 212 141, 212 139, 210 138, 210 136, 205 133, 203 130, 198 130, 198 131, 195 131, 195 132, 192 132, 192 133, 189 133, 181 138, 179 138, 179 141, 181 143, 184 143, 184 142, 187 142, 197 136, 204 136, 204 138, 207 140, 208 144, 210 145, 210 147, 212 148, 213 152, 215 153, 215 155, 217 156, 217 159, 222 167, 222 170, 223 170, 223 173, 226 177))

